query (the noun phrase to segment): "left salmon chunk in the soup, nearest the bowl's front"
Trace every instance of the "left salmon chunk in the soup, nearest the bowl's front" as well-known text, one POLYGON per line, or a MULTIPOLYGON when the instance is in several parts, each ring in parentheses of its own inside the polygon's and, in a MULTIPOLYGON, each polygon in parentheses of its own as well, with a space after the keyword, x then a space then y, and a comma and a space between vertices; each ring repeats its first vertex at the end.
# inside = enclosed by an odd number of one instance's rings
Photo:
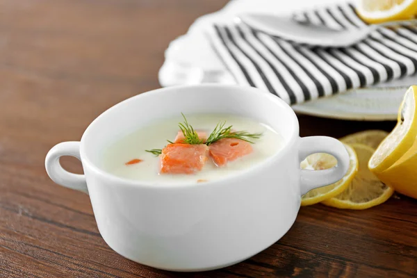
POLYGON ((169 144, 160 157, 161 174, 193 174, 202 170, 208 159, 208 147, 204 144, 169 144))

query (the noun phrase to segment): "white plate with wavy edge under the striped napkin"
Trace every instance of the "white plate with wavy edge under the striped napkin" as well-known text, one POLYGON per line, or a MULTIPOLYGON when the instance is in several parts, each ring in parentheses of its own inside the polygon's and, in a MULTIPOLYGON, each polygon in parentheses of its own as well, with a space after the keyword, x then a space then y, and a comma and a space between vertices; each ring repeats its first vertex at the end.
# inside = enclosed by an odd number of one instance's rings
MULTIPOLYGON (((343 1, 343 0, 336 0, 343 1)), ((204 29, 213 22, 227 22, 234 15, 245 11, 270 13, 292 13, 300 8, 314 8, 328 0, 239 0, 230 1, 222 10, 199 17, 188 33, 170 43, 165 51, 165 63, 159 71, 162 86, 199 83, 229 83, 236 81, 224 67, 211 47, 204 29)), ((345 120, 396 120, 398 107, 405 90, 417 83, 417 76, 381 83, 373 87, 343 92, 333 97, 309 101, 292 106, 297 113, 332 117, 345 120)))

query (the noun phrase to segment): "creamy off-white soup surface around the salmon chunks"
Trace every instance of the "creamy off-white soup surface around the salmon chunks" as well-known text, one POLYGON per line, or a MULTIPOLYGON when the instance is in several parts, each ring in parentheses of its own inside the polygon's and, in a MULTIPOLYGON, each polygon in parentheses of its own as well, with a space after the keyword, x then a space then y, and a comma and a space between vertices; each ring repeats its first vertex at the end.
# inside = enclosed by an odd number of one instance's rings
MULTIPOLYGON (((261 133, 261 136, 255 139, 249 138, 253 142, 253 144, 250 144, 252 148, 249 154, 245 153, 242 157, 224 163, 221 167, 214 162, 221 160, 215 160, 214 158, 218 158, 218 156, 211 156, 211 152, 209 151, 212 146, 215 146, 214 142, 208 145, 208 147, 206 145, 202 146, 202 149, 206 147, 208 152, 206 153, 207 157, 204 157, 204 165, 200 170, 191 174, 161 173, 161 155, 157 156, 157 154, 146 152, 146 150, 163 149, 166 145, 170 145, 167 140, 175 140, 179 133, 179 123, 183 122, 183 117, 179 115, 179 117, 153 122, 148 126, 134 131, 129 136, 120 138, 120 140, 114 142, 103 152, 102 167, 106 172, 110 172, 118 177, 138 181, 151 181, 155 183, 199 183, 220 179, 229 174, 247 170, 249 167, 256 165, 256 163, 260 163, 266 158, 277 154, 283 145, 283 139, 279 133, 270 128, 270 126, 247 117, 210 114, 186 115, 186 119, 188 120, 188 124, 193 126, 196 131, 204 131, 206 133, 205 137, 208 137, 219 122, 224 121, 226 121, 224 126, 232 126, 232 131, 261 133)), ((242 142, 241 145, 243 143, 246 142, 242 142)), ((234 146, 237 144, 238 141, 233 141, 230 145, 234 146)))

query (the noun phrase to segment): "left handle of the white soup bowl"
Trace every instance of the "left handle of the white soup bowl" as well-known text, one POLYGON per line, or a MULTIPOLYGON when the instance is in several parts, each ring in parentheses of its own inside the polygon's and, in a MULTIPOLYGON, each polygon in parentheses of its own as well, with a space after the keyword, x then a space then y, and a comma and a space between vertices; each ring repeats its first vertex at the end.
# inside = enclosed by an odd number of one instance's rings
POLYGON ((45 158, 45 168, 54 182, 88 194, 85 176, 65 170, 59 163, 61 156, 74 156, 81 161, 80 142, 62 142, 52 147, 47 154, 47 158, 45 158))

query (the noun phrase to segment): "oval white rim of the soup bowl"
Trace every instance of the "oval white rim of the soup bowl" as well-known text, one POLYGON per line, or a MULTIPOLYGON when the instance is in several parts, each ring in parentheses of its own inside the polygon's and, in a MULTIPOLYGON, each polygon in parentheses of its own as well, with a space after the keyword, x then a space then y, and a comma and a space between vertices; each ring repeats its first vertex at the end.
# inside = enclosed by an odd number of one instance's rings
POLYGON ((152 93, 152 95, 155 94, 161 94, 161 93, 165 93, 166 91, 170 91, 170 90, 183 90, 183 89, 188 89, 188 88, 193 88, 195 90, 199 90, 200 88, 230 88, 232 90, 244 90, 246 92, 249 92, 250 94, 263 94, 264 97, 267 97, 268 99, 270 99, 270 101, 274 101, 275 103, 279 104, 279 106, 281 106, 282 108, 284 108, 285 111, 287 111, 287 113, 289 115, 291 115, 291 124, 293 124, 294 126, 294 130, 293 130, 293 134, 291 134, 290 138, 288 139, 288 142, 286 142, 286 144, 284 145, 284 147, 282 149, 280 149, 276 154, 274 154, 273 156, 268 157, 267 159, 265 159, 264 161, 261 161, 260 163, 256 163, 256 165, 250 166, 249 168, 247 168, 246 170, 242 170, 239 171, 237 173, 234 174, 230 174, 227 175, 225 177, 222 177, 220 179, 215 179, 213 181, 206 181, 204 183, 198 183, 198 187, 200 186, 213 186, 215 184, 220 184, 220 183, 227 183, 227 181, 236 179, 236 177, 245 177, 246 175, 249 174, 256 174, 256 172, 259 172, 267 163, 270 163, 271 161, 275 161, 279 158, 281 158, 281 156, 284 155, 285 149, 291 145, 293 145, 295 143, 295 138, 297 138, 300 134, 300 125, 297 119, 297 116, 295 115, 295 112, 293 111, 293 109, 286 104, 286 102, 282 99, 280 99, 279 97, 277 97, 276 95, 272 95, 270 92, 265 92, 261 89, 258 88, 253 88, 253 87, 243 87, 240 85, 221 85, 221 84, 204 84, 204 85, 174 85, 174 86, 170 86, 167 88, 158 88, 155 90, 150 90, 147 92, 142 92, 139 95, 135 95, 133 97, 129 97, 128 99, 124 99, 123 101, 120 101, 119 103, 115 104, 114 106, 111 106, 111 108, 108 108, 106 111, 104 111, 103 113, 101 113, 98 117, 95 118, 95 120, 93 120, 87 127, 87 129, 85 129, 83 136, 81 137, 81 144, 80 144, 80 156, 81 156, 81 163, 85 163, 85 165, 88 165, 88 167, 93 170, 96 174, 100 174, 103 177, 106 177, 106 179, 108 179, 109 181, 113 181, 115 183, 118 183, 117 185, 124 185, 124 186, 136 186, 136 187, 146 187, 146 188, 184 188, 184 187, 193 187, 195 186, 195 183, 190 182, 190 181, 182 181, 179 183, 158 183, 158 182, 154 182, 154 181, 140 181, 140 180, 134 180, 134 179, 126 179, 123 177, 118 177, 115 174, 111 174, 109 172, 106 172, 105 170, 102 170, 101 167, 95 165, 95 163, 92 163, 92 161, 90 161, 90 159, 88 158, 88 156, 85 154, 85 152, 83 151, 85 149, 84 145, 84 138, 88 137, 88 133, 90 133, 90 130, 92 129, 92 126, 95 125, 96 122, 99 122, 101 120, 101 117, 104 117, 104 115, 108 114, 108 113, 112 113, 113 110, 117 109, 118 106, 124 104, 125 102, 129 102, 131 101, 131 99, 136 99, 136 98, 141 98, 141 97, 147 97, 150 93, 152 93), (155 186, 156 184, 158 184, 157 186, 155 186))

